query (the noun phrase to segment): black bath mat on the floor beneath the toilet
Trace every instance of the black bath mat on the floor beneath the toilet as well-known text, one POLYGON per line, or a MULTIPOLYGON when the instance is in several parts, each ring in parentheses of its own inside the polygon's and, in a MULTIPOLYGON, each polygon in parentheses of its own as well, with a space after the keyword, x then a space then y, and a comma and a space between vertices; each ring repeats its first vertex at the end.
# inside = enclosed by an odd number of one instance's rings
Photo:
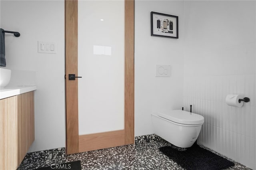
POLYGON ((183 151, 171 146, 164 146, 159 150, 187 170, 223 170, 235 165, 197 144, 183 151))

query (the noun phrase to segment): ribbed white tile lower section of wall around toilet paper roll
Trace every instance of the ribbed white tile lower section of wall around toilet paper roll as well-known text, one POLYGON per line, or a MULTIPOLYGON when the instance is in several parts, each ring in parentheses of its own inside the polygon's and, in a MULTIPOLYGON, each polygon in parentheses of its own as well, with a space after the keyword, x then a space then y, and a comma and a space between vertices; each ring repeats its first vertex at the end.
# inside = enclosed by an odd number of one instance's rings
POLYGON ((184 79, 184 109, 204 116, 198 143, 255 168, 255 75, 198 76, 184 79), (227 94, 250 98, 231 107, 227 94))

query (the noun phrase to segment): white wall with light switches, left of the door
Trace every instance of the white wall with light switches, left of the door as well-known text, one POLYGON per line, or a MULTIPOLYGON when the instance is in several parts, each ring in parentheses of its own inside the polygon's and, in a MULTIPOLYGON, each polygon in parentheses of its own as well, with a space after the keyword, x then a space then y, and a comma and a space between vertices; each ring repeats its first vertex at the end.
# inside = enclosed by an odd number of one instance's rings
POLYGON ((0 3, 1 27, 21 34, 6 34, 6 68, 36 72, 35 141, 30 151, 64 147, 64 1, 0 3), (38 53, 38 40, 56 42, 57 53, 38 53))

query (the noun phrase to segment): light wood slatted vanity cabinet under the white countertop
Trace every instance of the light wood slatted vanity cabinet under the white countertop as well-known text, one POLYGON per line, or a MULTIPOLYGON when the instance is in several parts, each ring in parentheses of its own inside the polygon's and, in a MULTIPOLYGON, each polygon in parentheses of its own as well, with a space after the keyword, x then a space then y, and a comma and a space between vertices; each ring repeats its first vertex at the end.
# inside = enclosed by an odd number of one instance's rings
POLYGON ((34 91, 0 99, 0 170, 16 170, 34 136, 34 91))

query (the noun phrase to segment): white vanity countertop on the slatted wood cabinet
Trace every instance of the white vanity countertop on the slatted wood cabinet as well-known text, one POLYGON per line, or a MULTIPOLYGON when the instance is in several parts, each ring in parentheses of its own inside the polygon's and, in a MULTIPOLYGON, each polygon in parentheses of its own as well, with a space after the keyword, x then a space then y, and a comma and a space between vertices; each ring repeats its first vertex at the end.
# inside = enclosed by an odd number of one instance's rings
POLYGON ((36 86, 6 87, 4 89, 0 89, 0 99, 20 95, 34 90, 36 90, 36 86))

